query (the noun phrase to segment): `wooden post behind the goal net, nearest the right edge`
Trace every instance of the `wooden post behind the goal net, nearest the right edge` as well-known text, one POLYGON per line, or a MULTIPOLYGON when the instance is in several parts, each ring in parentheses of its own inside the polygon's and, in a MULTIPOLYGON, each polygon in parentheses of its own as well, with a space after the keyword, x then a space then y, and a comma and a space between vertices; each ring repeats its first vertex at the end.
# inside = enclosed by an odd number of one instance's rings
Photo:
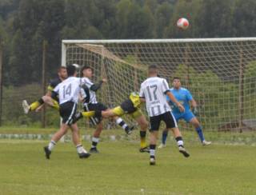
POLYGON ((244 113, 244 71, 242 49, 240 49, 240 68, 239 68, 239 132, 242 133, 242 121, 244 113))

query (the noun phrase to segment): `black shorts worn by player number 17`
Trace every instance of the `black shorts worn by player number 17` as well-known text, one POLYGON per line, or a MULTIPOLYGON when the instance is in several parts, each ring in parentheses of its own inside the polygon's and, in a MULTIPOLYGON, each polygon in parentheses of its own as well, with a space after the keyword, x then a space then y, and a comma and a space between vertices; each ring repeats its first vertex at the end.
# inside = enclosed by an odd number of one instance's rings
POLYGON ((158 116, 150 117, 150 131, 159 129, 161 121, 166 123, 166 129, 177 127, 174 115, 170 112, 162 113, 158 116))

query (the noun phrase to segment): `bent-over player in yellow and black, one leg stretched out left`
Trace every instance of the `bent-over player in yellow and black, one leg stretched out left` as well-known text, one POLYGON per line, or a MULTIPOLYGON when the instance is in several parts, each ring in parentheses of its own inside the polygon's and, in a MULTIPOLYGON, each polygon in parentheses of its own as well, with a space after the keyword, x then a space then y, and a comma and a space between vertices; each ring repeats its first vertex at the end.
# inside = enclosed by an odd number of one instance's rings
POLYGON ((131 93, 130 97, 122 102, 121 105, 114 107, 113 109, 106 109, 104 111, 90 111, 90 112, 82 112, 77 114, 77 120, 83 117, 90 117, 90 115, 94 115, 95 117, 121 117, 124 114, 129 114, 134 118, 135 121, 138 122, 140 126, 140 149, 141 153, 149 153, 150 150, 146 144, 146 129, 148 128, 148 121, 146 121, 146 117, 143 115, 142 110, 139 108, 141 105, 141 101, 138 93, 131 93))

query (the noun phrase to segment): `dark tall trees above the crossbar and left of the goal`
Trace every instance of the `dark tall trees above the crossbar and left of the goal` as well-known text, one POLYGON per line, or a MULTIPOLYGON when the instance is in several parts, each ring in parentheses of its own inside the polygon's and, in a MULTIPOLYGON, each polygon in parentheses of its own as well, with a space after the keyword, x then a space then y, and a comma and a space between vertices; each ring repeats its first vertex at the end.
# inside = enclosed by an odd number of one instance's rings
POLYGON ((62 39, 253 37, 255 15, 254 0, 2 0, 4 85, 41 81, 43 40, 50 78, 62 39), (188 30, 176 27, 181 17, 188 30))

